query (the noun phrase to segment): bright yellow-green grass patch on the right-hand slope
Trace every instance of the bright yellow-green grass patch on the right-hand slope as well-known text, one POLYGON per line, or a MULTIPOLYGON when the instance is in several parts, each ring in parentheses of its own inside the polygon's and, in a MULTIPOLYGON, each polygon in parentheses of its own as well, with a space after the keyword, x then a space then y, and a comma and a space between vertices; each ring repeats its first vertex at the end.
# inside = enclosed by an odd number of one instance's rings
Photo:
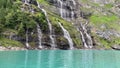
POLYGON ((105 24, 107 29, 120 30, 119 28, 119 17, 116 15, 92 15, 90 17, 90 22, 95 27, 100 28, 101 25, 105 24))

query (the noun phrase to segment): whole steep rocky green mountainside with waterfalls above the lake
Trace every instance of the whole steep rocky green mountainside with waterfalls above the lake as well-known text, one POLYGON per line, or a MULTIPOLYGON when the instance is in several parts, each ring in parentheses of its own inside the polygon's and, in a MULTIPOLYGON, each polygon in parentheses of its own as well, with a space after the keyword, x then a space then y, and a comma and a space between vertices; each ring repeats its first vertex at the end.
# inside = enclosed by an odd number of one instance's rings
POLYGON ((120 44, 119 0, 1 0, 0 45, 110 49, 120 44))

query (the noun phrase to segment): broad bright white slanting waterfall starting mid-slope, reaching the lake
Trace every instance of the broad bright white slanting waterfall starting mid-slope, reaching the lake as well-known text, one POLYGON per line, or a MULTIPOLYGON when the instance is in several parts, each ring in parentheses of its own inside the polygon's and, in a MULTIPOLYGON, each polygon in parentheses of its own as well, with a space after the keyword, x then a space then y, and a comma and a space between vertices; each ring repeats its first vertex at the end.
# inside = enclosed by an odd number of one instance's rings
POLYGON ((62 28, 62 30, 64 32, 64 37, 68 40, 70 49, 74 49, 74 47, 73 47, 74 44, 73 44, 72 38, 70 37, 69 32, 61 25, 60 22, 58 24, 60 25, 60 27, 62 28))

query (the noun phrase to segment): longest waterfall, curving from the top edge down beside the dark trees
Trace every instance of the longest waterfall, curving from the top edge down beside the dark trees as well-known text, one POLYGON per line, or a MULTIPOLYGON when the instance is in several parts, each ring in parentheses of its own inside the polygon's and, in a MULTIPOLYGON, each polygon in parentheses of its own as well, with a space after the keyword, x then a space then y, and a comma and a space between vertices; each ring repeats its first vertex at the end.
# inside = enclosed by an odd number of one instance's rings
POLYGON ((50 39, 51 39, 51 47, 52 47, 52 48, 55 48, 56 45, 55 45, 55 39, 54 39, 54 37, 53 37, 54 35, 52 34, 52 24, 50 23, 50 21, 49 21, 49 19, 48 19, 47 12, 40 7, 40 4, 39 4, 38 2, 37 2, 37 4, 38 4, 38 8, 41 9, 42 12, 45 14, 46 20, 47 20, 47 22, 48 22, 49 30, 50 30, 50 35, 49 35, 49 37, 50 37, 50 39))

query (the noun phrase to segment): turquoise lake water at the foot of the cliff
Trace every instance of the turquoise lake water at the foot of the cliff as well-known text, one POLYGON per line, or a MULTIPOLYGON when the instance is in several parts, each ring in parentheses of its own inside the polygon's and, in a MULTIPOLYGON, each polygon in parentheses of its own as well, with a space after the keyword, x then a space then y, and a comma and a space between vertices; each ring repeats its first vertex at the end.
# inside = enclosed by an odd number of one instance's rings
POLYGON ((120 68, 120 51, 1 51, 0 68, 120 68))

